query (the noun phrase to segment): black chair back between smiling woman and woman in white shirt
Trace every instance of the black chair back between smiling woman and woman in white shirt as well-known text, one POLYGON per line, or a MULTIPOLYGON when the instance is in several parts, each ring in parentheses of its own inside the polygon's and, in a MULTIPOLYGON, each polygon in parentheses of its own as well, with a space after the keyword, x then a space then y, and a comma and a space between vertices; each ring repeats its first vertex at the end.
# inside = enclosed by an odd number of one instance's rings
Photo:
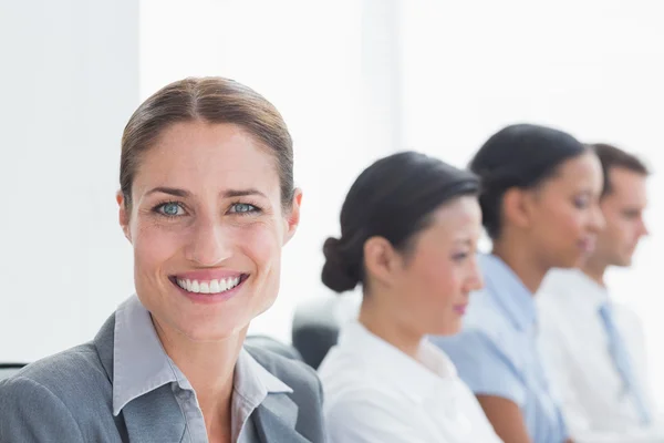
POLYGON ((336 344, 340 326, 356 311, 357 306, 349 295, 317 297, 295 309, 292 341, 307 364, 319 368, 330 348, 336 344))

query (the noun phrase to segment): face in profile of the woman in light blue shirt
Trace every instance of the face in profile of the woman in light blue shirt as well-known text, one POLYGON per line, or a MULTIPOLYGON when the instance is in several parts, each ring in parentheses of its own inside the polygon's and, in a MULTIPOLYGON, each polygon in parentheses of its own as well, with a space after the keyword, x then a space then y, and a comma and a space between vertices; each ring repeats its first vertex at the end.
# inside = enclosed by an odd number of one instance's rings
POLYGON ((574 267, 592 251, 604 223, 602 185, 600 161, 588 153, 562 163, 552 178, 530 192, 528 243, 546 267, 574 267))

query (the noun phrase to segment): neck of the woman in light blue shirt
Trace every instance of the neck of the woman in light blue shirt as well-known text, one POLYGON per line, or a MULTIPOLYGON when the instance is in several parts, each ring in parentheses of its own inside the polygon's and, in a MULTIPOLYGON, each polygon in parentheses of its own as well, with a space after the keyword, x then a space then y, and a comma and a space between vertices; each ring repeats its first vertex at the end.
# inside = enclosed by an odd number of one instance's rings
POLYGON ((500 258, 519 277, 531 295, 536 295, 549 269, 523 247, 523 241, 499 239, 494 241, 492 254, 500 258))

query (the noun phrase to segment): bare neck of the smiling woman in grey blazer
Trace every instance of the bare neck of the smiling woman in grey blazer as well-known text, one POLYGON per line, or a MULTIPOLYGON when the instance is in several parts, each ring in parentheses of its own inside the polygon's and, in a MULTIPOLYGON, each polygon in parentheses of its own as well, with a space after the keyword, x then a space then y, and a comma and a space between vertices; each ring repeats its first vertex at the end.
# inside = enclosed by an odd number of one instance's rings
POLYGON ((153 321, 166 353, 196 392, 208 437, 228 435, 226 440, 230 441, 235 367, 247 328, 220 341, 197 342, 179 331, 163 328, 154 318, 153 321))

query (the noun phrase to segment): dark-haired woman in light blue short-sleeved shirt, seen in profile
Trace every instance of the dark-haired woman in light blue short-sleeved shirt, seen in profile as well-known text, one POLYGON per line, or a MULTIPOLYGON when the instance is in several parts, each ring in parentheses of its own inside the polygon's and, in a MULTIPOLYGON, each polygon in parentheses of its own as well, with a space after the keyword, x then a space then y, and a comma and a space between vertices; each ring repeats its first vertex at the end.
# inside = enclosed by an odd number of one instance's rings
POLYGON ((569 268, 592 247, 603 219, 602 169, 571 135, 519 124, 475 155, 483 223, 492 254, 480 257, 485 280, 464 330, 436 338, 479 399, 498 435, 513 443, 568 439, 536 349, 533 295, 547 271, 569 268))

